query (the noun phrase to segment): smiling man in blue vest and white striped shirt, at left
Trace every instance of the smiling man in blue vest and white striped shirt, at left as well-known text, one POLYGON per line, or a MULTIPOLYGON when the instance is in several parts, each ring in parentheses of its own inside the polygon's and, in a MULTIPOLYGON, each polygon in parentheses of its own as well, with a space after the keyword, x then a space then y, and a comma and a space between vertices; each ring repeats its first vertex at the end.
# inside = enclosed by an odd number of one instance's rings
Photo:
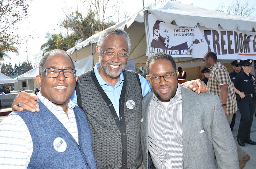
POLYGON ((0 123, 1 169, 96 169, 86 115, 70 100, 77 79, 65 51, 44 55, 36 77, 39 113, 14 111, 0 123))

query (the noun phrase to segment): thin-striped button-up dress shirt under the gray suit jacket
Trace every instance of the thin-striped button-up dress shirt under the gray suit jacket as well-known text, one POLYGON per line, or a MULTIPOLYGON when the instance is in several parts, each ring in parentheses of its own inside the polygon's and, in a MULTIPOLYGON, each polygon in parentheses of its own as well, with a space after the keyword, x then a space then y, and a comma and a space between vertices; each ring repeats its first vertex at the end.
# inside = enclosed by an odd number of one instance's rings
POLYGON ((153 95, 148 112, 148 151, 157 169, 182 169, 181 87, 167 107, 153 95))

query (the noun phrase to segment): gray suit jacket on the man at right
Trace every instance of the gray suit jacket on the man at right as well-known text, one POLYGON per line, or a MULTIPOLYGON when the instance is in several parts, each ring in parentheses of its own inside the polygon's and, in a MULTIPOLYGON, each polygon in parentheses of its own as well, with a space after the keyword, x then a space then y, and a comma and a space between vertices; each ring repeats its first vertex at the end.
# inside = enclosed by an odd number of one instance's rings
MULTIPOLYGON (((237 148, 217 95, 181 87, 183 169, 239 169, 237 148), (204 130, 200 134, 200 131, 204 130), (216 157, 216 159, 215 159, 216 157)), ((142 101, 142 165, 148 168, 148 108, 153 92, 142 101)), ((150 168, 150 167, 149 167, 150 168)))

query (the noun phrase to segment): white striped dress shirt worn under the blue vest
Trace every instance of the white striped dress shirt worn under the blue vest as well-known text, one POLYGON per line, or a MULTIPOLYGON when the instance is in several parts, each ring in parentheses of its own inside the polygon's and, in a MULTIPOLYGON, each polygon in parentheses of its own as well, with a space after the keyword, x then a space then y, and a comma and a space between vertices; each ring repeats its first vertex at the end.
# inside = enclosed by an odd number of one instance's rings
MULTIPOLYGON (((38 98, 56 116, 78 143, 78 130, 73 108, 75 104, 68 102, 68 117, 62 107, 54 105, 38 93, 38 98)), ((33 152, 30 132, 23 119, 14 114, 8 115, 0 123, 0 168, 26 169, 33 152)))

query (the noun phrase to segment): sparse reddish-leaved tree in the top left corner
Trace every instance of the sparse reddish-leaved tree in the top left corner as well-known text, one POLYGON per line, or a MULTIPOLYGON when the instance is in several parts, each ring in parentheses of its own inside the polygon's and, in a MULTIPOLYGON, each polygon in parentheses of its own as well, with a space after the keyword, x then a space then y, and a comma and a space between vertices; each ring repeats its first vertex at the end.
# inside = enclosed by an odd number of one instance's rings
POLYGON ((18 53, 15 45, 19 45, 18 30, 15 23, 27 15, 31 0, 0 0, 0 58, 6 57, 6 51, 18 53))

